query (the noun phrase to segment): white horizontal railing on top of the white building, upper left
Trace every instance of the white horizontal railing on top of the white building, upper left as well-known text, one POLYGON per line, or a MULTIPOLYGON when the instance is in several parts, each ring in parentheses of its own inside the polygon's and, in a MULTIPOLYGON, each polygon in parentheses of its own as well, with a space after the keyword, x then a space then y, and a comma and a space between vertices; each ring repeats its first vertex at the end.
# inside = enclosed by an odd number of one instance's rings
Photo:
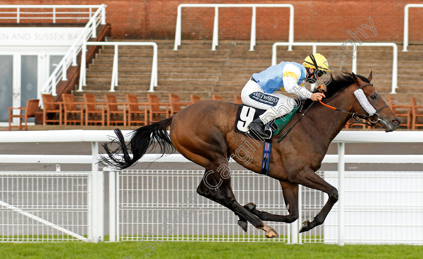
POLYGON ((53 20, 53 23, 56 23, 56 20, 81 20, 81 19, 91 19, 91 9, 92 8, 96 8, 99 9, 101 8, 101 5, 0 5, 0 9, 16 9, 16 12, 0 12, 0 14, 7 14, 8 16, 6 17, 0 17, 0 19, 2 20, 16 20, 17 23, 20 23, 21 20, 53 20), (21 12, 21 9, 52 9, 51 12, 21 12), (57 9, 89 9, 89 12, 81 12, 81 11, 77 11, 77 12, 57 12, 57 9), (22 14, 29 14, 29 15, 34 15, 36 14, 37 16, 28 16, 28 17, 23 17, 22 14), (51 16, 39 16, 39 15, 51 15, 51 16), (64 14, 88 14, 88 16, 86 17, 76 17, 76 16, 69 16, 69 17, 64 17, 64 16, 60 16, 57 17, 57 14, 60 15, 64 15, 64 14), (15 17, 13 17, 12 15, 16 15, 15 17))

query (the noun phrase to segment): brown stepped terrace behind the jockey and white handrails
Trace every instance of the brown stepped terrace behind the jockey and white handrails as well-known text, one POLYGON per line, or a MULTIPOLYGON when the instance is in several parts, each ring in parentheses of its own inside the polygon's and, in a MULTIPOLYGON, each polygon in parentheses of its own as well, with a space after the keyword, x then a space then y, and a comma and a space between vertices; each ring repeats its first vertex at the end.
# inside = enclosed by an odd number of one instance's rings
MULTIPOLYGON (((177 51, 173 40, 155 40, 158 44, 158 86, 155 93, 160 100, 168 101, 169 93, 179 95, 181 101, 189 101, 190 95, 199 95, 202 100, 221 95, 223 101, 233 102, 234 95, 240 95, 252 73, 271 65, 273 41, 258 41, 255 51, 249 51, 249 41, 220 41, 216 51, 210 50, 210 41, 182 41, 177 51)), ((310 47, 294 47, 287 51, 278 47, 277 62, 296 61, 302 63, 312 51, 310 47)), ((423 103, 423 46, 410 46, 408 52, 401 52, 398 46, 397 94, 392 95, 398 104, 409 104, 410 96, 423 103)), ((318 47, 317 52, 329 57, 340 47, 318 47)), ((343 52, 344 53, 344 52, 343 52)), ((103 47, 87 70, 87 86, 84 92, 76 92, 77 101, 83 93, 95 94, 99 101, 109 94, 113 63, 113 47, 103 47)), ((119 85, 115 87, 117 99, 125 101, 125 95, 135 94, 139 102, 147 101, 150 89, 153 49, 149 46, 119 46, 119 85)), ((351 58, 343 66, 330 65, 336 72, 341 68, 351 70, 351 58)), ((358 73, 368 76, 373 70, 376 90, 387 101, 391 91, 392 48, 359 47, 358 73)), ((77 87, 76 87, 77 89, 77 87)))

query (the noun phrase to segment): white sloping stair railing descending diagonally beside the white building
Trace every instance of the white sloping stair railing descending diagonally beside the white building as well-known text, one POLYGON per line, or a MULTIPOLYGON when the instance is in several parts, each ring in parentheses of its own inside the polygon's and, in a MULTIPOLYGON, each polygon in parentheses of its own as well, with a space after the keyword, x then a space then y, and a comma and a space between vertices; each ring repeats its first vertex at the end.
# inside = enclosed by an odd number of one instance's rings
MULTIPOLYGON (((88 41, 90 37, 95 38, 96 29, 99 24, 106 24, 106 5, 102 4, 99 6, 97 11, 93 14, 90 21, 84 27, 83 31, 75 41, 75 43, 69 48, 66 54, 60 60, 54 71, 51 73, 47 82, 41 88, 38 99, 41 99, 41 94, 52 94, 56 96, 56 85, 60 80, 67 80, 66 71, 67 68, 72 64, 77 65, 77 55, 83 48, 83 44, 88 41)), ((85 60, 81 59, 81 63, 85 63, 85 60)))

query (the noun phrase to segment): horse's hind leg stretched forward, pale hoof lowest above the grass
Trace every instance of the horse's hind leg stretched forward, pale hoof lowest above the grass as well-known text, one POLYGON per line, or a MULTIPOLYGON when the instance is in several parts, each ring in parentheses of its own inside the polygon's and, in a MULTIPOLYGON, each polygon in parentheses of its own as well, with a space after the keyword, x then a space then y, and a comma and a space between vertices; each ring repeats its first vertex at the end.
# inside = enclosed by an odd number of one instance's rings
POLYGON ((232 192, 231 177, 229 176, 227 161, 226 159, 223 161, 224 162, 220 165, 216 164, 210 166, 210 168, 206 168, 204 177, 197 188, 197 193, 227 207, 256 228, 264 230, 266 232, 266 237, 278 237, 278 234, 273 228, 266 225, 262 220, 254 216, 237 202, 232 192))

